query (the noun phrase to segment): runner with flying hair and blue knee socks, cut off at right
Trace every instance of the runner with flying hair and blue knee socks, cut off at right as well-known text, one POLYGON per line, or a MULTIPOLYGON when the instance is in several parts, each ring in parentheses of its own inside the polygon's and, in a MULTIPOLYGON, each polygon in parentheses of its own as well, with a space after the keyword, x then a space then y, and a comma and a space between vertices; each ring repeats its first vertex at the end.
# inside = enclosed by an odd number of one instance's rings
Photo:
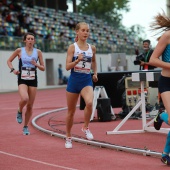
MULTIPOLYGON (((163 122, 170 125, 170 18, 165 14, 158 14, 151 27, 153 30, 164 31, 162 36, 158 38, 158 44, 149 61, 151 65, 162 68, 158 89, 166 111, 160 111, 154 120, 154 127, 159 130, 163 122), (160 56, 162 56, 162 60, 159 59, 160 56)), ((161 158, 161 161, 167 165, 170 165, 169 154, 170 132, 167 135, 161 158)))

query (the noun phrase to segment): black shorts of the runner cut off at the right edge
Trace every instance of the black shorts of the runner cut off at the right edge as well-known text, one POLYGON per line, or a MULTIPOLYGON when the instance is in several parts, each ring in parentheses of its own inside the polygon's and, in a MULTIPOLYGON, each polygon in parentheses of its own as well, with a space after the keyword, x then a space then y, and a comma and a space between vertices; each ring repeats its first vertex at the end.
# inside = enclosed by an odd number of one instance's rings
POLYGON ((158 82, 159 93, 170 91, 170 77, 160 76, 158 82))

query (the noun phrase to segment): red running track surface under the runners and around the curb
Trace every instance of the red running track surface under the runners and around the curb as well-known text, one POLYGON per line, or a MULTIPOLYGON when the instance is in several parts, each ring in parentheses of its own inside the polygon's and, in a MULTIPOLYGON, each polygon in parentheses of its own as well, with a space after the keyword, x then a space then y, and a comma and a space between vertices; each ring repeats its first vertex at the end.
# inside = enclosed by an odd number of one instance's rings
MULTIPOLYGON (((65 149, 64 140, 51 137, 35 129, 30 123, 31 135, 23 136, 22 127, 16 123, 18 107, 17 92, 0 94, 0 170, 163 170, 168 169, 159 158, 137 155, 113 149, 99 148, 73 142, 73 149, 65 149)), ((65 88, 38 90, 33 117, 49 110, 66 107, 65 88)), ((58 128, 65 130, 65 112, 56 118, 58 128)), ((47 118, 38 121, 48 127, 47 118)), ((83 137, 80 131, 83 112, 77 110, 73 134, 83 137), (82 114, 81 114, 82 113, 82 114)), ((113 144, 144 148, 161 152, 166 140, 165 134, 143 133, 106 135, 120 120, 112 122, 91 122, 90 129, 96 140, 113 144)), ((141 128, 139 120, 128 120, 123 129, 141 128)))

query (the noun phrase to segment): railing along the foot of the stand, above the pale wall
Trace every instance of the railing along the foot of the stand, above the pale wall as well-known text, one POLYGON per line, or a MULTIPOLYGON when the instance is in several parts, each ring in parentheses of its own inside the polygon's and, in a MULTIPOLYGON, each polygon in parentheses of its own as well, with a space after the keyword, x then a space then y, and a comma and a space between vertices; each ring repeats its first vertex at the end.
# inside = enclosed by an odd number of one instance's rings
MULTIPOLYGON (((36 38, 35 47, 39 48, 43 52, 66 52, 72 40, 54 39, 47 40, 43 38, 36 38)), ((93 44, 97 48, 97 53, 126 53, 134 54, 134 45, 128 43, 114 44, 114 43, 93 43, 89 40, 90 44, 93 44)), ((15 36, 0 36, 0 50, 15 50, 16 48, 24 46, 22 37, 15 36)))

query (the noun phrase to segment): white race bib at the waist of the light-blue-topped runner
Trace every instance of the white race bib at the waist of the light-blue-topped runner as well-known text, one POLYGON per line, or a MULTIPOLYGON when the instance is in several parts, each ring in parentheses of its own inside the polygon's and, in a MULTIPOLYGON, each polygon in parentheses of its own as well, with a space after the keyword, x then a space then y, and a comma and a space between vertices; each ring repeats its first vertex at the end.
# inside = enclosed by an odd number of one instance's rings
POLYGON ((21 79, 34 80, 35 79, 35 68, 22 67, 21 68, 21 79))

